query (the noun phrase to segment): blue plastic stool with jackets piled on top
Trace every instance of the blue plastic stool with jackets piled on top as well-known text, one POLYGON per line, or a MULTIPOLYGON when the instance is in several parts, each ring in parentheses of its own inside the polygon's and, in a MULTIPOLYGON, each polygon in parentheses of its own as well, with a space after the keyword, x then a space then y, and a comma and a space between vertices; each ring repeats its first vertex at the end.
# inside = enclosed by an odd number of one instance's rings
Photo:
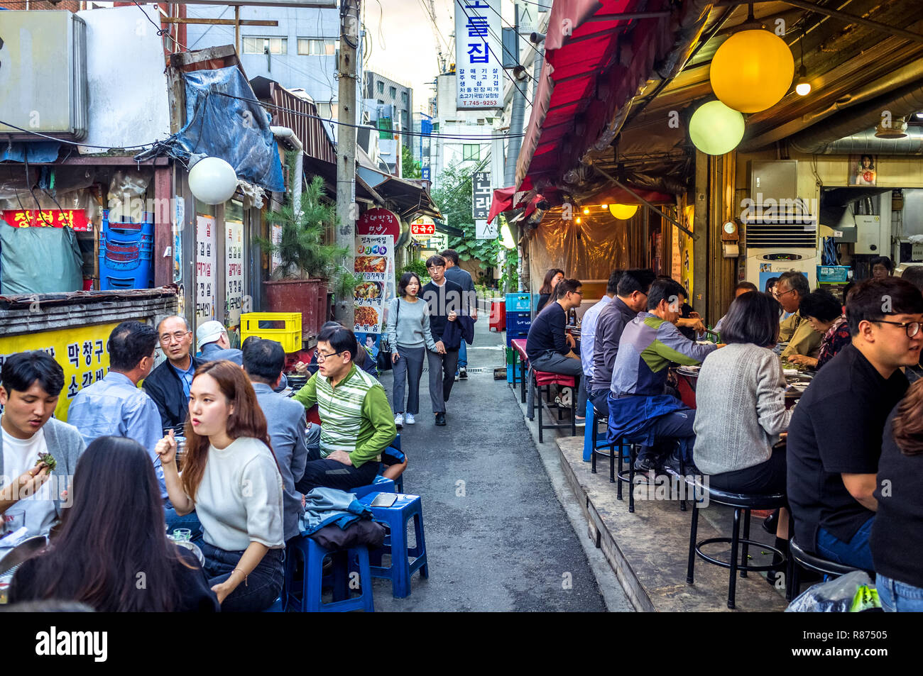
MULTIPOLYGON (((299 612, 375 611, 375 602, 372 599, 372 572, 368 563, 368 548, 365 545, 345 550, 347 555, 346 565, 340 565, 340 570, 335 571, 335 576, 340 577, 340 580, 345 582, 350 563, 357 559, 359 584, 362 593, 353 599, 334 600, 331 603, 321 602, 321 590, 324 583, 324 557, 336 551, 343 550, 330 551, 321 547, 306 535, 295 538, 291 542, 286 551, 285 564, 285 588, 288 595, 286 609, 291 607, 294 611, 299 612), (295 589, 293 582, 294 566, 298 559, 304 562, 300 593, 295 589)), ((334 559, 335 569, 338 563, 334 559)), ((334 586, 336 587, 336 584, 334 586)), ((347 591, 346 594, 348 596, 349 592, 347 591)))

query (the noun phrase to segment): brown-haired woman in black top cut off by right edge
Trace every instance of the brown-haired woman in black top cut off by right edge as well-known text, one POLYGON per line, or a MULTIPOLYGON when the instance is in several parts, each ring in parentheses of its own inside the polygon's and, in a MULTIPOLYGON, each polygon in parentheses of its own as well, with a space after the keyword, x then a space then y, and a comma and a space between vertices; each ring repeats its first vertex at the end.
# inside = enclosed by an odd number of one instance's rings
POLYGON ((894 407, 881 439, 869 549, 886 612, 923 611, 923 380, 894 407))

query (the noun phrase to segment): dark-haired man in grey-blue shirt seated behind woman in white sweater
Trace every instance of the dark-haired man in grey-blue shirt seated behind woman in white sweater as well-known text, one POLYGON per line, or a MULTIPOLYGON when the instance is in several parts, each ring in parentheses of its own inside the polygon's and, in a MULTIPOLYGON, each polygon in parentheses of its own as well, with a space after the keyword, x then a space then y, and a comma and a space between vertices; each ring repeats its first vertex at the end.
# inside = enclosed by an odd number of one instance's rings
POLYGON ((301 493, 294 484, 302 479, 307 463, 305 407, 273 392, 282 377, 285 351, 275 340, 250 338, 244 343, 244 371, 257 393, 269 425, 272 451, 282 474, 282 528, 285 540, 299 534, 298 517, 304 514, 301 493))

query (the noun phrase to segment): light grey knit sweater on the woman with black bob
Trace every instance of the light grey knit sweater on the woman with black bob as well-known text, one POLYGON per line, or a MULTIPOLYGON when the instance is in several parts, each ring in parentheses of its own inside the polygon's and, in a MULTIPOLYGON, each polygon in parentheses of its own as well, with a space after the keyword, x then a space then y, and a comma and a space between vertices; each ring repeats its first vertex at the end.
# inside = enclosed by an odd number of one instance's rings
POLYGON ((701 364, 695 391, 695 464, 705 474, 746 469, 773 455, 788 429, 785 376, 773 350, 734 343, 701 364))

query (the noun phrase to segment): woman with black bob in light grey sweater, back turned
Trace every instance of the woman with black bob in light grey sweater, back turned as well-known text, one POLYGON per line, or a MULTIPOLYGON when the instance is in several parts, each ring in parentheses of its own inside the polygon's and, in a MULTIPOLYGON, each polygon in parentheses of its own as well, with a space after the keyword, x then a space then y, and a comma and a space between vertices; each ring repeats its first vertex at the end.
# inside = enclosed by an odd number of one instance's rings
MULTIPOLYGON (((785 446, 791 411, 785 376, 773 347, 779 339, 779 303, 744 293, 731 303, 721 338, 727 345, 701 364, 696 384, 696 467, 719 491, 785 492, 785 446)), ((778 539, 788 539, 780 515, 778 539)))

